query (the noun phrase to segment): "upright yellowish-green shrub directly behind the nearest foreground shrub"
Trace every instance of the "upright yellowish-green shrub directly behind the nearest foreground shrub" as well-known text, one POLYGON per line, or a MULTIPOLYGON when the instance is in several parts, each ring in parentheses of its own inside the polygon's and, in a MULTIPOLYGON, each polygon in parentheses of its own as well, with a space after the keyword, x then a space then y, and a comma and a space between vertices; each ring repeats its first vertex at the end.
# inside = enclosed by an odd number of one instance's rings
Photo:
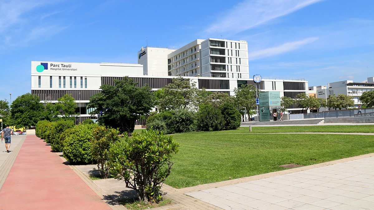
POLYGON ((110 145, 119 140, 117 129, 109 129, 105 126, 98 126, 93 130, 91 142, 91 153, 93 160, 97 161, 97 167, 102 178, 108 178, 108 151, 110 145))

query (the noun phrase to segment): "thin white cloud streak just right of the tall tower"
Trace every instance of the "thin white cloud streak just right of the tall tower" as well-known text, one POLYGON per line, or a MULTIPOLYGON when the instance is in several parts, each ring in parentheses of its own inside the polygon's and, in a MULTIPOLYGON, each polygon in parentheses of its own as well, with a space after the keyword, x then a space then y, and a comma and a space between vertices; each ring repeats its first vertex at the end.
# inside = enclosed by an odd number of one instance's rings
POLYGON ((287 42, 287 43, 281 44, 281 45, 276 46, 276 47, 270 47, 270 48, 259 50, 259 51, 256 51, 256 52, 250 52, 248 54, 248 59, 249 60, 255 60, 255 59, 266 58, 266 57, 269 57, 269 56, 289 52, 291 50, 298 49, 299 47, 301 47, 305 44, 312 43, 313 41, 316 41, 317 39, 318 39, 318 37, 309 37, 309 38, 305 38, 303 40, 287 42))

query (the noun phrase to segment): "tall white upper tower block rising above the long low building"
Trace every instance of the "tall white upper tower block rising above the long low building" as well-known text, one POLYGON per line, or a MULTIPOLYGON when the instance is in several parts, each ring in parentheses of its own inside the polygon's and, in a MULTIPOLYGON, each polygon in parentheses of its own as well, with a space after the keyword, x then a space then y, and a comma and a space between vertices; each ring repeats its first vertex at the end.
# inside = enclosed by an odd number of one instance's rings
POLYGON ((170 52, 167 56, 165 53, 147 56, 150 49, 142 48, 138 52, 138 64, 144 66, 147 75, 165 74, 164 68, 156 68, 155 65, 151 67, 149 63, 161 64, 167 61, 167 73, 170 76, 249 78, 246 41, 209 38, 194 40, 177 50, 153 48, 155 52, 170 52), (154 71, 159 71, 160 74, 154 71))

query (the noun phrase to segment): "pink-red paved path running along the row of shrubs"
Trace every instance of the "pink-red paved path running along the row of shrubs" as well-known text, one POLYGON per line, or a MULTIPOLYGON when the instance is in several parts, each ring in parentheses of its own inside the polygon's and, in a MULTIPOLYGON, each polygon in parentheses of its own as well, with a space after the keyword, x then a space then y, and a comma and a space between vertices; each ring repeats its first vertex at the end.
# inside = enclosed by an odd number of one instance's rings
POLYGON ((0 190, 0 209, 110 209, 85 182, 28 135, 0 190))

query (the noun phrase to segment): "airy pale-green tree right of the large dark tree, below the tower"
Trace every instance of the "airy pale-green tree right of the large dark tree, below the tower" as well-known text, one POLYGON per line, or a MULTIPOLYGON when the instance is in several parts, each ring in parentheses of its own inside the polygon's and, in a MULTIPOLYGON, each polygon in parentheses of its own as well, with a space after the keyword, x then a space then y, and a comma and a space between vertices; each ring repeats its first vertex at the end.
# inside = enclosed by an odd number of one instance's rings
POLYGON ((198 89, 196 82, 183 77, 172 78, 169 83, 157 92, 157 108, 163 110, 193 109, 196 103, 198 89))

